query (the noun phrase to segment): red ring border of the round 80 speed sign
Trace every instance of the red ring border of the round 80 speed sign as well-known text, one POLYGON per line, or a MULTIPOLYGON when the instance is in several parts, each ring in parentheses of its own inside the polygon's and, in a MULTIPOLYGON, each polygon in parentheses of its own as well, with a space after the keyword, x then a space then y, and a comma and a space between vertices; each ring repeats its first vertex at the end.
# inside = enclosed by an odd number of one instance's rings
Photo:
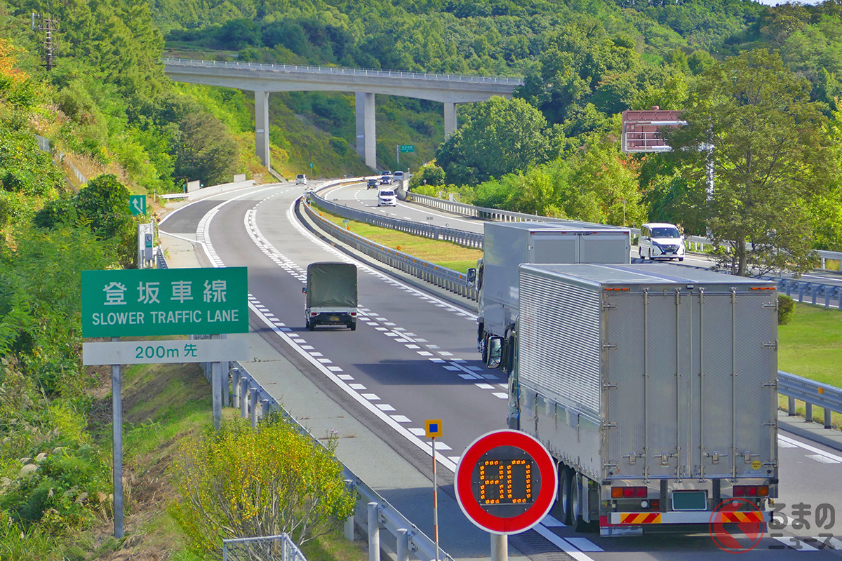
POLYGON ((471 443, 456 465, 456 478, 453 486, 456 490, 456 502, 477 527, 496 534, 516 534, 535 526, 552 508, 556 500, 558 473, 556 463, 546 448, 525 432, 503 430, 488 432, 471 443), (471 489, 473 468, 482 454, 501 446, 517 447, 528 453, 535 460, 541 474, 541 489, 535 503, 529 510, 513 518, 501 518, 483 511, 474 499, 471 489), (548 477, 548 475, 551 475, 548 477))

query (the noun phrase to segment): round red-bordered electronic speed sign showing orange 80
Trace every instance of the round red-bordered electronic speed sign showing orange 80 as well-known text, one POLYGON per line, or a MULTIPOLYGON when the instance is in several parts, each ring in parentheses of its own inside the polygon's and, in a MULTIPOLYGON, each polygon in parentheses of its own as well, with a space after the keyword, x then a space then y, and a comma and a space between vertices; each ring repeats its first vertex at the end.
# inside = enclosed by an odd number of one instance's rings
POLYGON ((550 511, 557 491, 556 463, 535 438, 493 431, 477 438, 456 466, 456 500, 483 530, 529 530, 550 511))

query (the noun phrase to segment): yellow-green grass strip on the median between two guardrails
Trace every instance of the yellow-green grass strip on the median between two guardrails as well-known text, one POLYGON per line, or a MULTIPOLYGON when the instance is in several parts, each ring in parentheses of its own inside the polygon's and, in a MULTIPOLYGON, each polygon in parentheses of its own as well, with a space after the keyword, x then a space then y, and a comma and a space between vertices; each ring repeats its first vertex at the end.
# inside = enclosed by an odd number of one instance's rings
MULTIPOLYGON (((314 205, 314 208, 317 207, 314 205)), ((318 209, 318 211, 323 218, 341 227, 347 227, 354 234, 363 236, 367 240, 376 241, 381 246, 397 249, 397 251, 424 259, 424 261, 434 262, 441 267, 447 267, 459 273, 466 273, 468 267, 477 267, 477 259, 482 257, 482 250, 459 246, 451 241, 431 240, 423 236, 413 236, 412 234, 389 230, 356 220, 343 223, 345 219, 341 216, 330 214, 322 209, 318 209)))

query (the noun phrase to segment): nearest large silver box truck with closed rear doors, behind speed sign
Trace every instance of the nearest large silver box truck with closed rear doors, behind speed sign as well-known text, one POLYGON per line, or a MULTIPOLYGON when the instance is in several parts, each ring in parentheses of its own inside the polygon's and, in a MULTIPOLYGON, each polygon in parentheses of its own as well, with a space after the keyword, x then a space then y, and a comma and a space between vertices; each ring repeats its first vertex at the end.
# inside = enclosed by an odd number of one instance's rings
POLYGON ((509 426, 605 536, 770 521, 775 283, 676 265, 522 265, 509 426))

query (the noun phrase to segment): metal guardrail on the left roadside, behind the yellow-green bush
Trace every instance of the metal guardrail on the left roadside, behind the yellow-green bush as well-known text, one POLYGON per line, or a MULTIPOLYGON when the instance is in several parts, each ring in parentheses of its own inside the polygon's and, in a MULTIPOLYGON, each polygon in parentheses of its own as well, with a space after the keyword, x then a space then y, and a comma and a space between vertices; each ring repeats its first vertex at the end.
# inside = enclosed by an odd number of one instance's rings
MULTIPOLYGON (((306 430, 296 419, 278 403, 263 386, 261 386, 253 376, 248 373, 248 370, 242 366, 242 363, 232 363, 231 368, 231 388, 223 387, 223 405, 239 407, 242 418, 251 417, 253 427, 258 426, 258 421, 265 413, 270 410, 280 411, 285 421, 290 422, 296 427, 302 435, 310 437, 312 442, 316 442, 323 446, 322 442, 316 437, 313 437, 309 431, 306 430)), ((224 378, 223 378, 224 380, 224 378)), ((223 386, 226 386, 223 382, 223 386)), ((430 539, 424 532, 418 529, 406 516, 403 516, 397 509, 390 505, 389 502, 381 497, 376 490, 373 490, 357 477, 346 466, 343 466, 343 475, 349 487, 356 490, 360 495, 360 500, 357 501, 357 508, 354 511, 354 516, 351 516, 346 521, 345 537, 353 539, 354 527, 347 526, 348 524, 359 523, 362 527, 368 527, 371 517, 370 510, 374 509, 378 521, 378 528, 386 529, 390 532, 398 542, 398 550, 401 545, 404 545, 403 553, 413 553, 413 557, 421 561, 434 561, 435 559, 442 559, 445 561, 453 561, 447 553, 439 548, 439 555, 435 554, 435 542, 430 539), (371 505, 376 503, 376 505, 371 505), (350 535, 349 535, 350 534, 350 535)), ((371 532, 371 528, 369 528, 371 532)), ((378 557, 379 558, 379 557, 378 557)), ((402 561, 399 559, 399 561, 402 561)))

